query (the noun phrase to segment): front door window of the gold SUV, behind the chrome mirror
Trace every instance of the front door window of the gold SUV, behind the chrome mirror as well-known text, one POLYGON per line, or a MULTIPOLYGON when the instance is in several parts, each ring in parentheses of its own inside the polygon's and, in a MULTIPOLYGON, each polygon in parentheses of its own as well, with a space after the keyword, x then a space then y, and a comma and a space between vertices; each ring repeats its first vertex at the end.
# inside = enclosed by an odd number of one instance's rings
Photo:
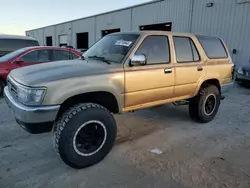
POLYGON ((147 64, 169 63, 169 43, 166 36, 149 36, 142 42, 136 52, 144 54, 147 64))

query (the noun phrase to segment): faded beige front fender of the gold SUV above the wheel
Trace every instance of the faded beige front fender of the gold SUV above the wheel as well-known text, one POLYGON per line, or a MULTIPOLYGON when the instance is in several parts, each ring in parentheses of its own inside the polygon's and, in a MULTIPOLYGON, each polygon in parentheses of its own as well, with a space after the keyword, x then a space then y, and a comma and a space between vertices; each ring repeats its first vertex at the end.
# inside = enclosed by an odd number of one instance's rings
POLYGON ((44 83, 43 85, 48 88, 43 105, 62 104, 68 98, 79 94, 105 91, 115 96, 120 110, 124 106, 123 71, 120 73, 57 80, 44 83))

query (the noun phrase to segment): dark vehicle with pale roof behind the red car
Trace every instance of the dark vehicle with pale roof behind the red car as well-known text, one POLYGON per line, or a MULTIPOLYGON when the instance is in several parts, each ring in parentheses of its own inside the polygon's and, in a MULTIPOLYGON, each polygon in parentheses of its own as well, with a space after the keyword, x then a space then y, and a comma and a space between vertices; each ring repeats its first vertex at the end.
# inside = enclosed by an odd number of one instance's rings
POLYGON ((31 37, 0 34, 0 57, 29 46, 39 46, 39 43, 31 37))

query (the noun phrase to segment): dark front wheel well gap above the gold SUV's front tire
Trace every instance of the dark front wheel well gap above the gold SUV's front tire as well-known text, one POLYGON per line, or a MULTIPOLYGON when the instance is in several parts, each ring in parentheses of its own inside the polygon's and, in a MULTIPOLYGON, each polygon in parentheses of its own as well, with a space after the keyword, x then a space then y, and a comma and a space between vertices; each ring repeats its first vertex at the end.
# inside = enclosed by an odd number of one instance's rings
POLYGON ((119 106, 115 96, 109 92, 100 91, 100 92, 90 92, 90 93, 75 95, 67 99, 62 103, 57 116, 59 117, 66 110, 68 110, 70 107, 76 104, 86 103, 86 102, 99 104, 107 108, 112 113, 119 112, 119 106))

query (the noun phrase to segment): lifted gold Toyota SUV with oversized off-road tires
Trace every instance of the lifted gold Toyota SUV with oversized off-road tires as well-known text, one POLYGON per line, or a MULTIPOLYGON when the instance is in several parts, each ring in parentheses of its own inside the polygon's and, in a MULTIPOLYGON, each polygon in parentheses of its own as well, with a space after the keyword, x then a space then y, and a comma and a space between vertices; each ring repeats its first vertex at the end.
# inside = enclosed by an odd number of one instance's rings
POLYGON ((214 119, 233 86, 221 39, 159 31, 105 36, 81 59, 14 70, 5 99, 30 133, 53 132, 73 168, 101 161, 116 139, 112 115, 166 103, 188 104, 192 119, 214 119))

